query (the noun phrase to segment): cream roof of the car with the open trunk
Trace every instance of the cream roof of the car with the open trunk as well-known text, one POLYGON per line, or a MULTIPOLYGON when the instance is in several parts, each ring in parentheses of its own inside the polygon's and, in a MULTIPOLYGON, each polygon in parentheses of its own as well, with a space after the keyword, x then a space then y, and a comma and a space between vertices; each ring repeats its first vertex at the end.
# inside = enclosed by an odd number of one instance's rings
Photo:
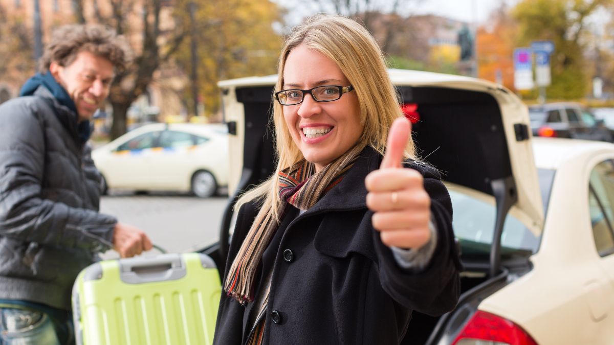
POLYGON ((564 138, 533 138, 533 155, 538 169, 558 169, 569 160, 599 150, 614 150, 614 145, 603 141, 564 138))

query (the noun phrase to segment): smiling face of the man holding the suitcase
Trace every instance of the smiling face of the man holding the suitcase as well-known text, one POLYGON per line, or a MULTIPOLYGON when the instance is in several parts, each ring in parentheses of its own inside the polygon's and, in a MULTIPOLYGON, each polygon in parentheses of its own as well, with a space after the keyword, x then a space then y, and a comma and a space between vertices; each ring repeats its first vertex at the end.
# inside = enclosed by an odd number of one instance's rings
POLYGON ((66 89, 77 107, 79 122, 90 120, 109 95, 114 68, 111 61, 90 52, 79 52, 68 66, 51 63, 49 71, 66 89))

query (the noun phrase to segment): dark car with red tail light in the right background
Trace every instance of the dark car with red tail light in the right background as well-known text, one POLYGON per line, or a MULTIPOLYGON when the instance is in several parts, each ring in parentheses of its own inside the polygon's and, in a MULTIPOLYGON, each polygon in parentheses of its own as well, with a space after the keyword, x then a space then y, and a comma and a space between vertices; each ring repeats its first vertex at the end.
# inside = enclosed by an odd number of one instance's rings
POLYGON ((534 136, 600 140, 612 142, 612 132, 578 103, 548 103, 530 106, 529 116, 534 136))

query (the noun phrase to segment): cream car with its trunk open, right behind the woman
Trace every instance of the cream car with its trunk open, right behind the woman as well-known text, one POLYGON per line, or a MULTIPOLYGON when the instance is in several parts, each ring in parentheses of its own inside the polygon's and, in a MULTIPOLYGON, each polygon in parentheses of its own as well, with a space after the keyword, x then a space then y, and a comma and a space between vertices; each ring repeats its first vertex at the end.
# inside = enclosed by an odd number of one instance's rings
MULTIPOLYGON (((611 344, 614 145, 532 138, 527 107, 492 82, 389 74, 418 152, 443 172, 465 266, 454 311, 414 312, 403 344, 611 344)), ((219 83, 236 191, 204 250, 220 272, 236 198, 274 171, 276 80, 219 83)))

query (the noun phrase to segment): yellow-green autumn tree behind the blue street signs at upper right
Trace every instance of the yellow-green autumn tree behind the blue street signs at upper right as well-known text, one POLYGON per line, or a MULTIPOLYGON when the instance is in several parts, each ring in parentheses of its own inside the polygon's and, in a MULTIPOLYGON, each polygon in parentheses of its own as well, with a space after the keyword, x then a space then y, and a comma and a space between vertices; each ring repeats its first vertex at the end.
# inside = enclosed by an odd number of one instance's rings
POLYGON ((519 23, 518 46, 529 46, 534 40, 551 40, 555 50, 550 66, 551 98, 581 98, 588 90, 585 71, 586 19, 597 9, 609 6, 612 0, 523 0, 513 10, 519 23))

